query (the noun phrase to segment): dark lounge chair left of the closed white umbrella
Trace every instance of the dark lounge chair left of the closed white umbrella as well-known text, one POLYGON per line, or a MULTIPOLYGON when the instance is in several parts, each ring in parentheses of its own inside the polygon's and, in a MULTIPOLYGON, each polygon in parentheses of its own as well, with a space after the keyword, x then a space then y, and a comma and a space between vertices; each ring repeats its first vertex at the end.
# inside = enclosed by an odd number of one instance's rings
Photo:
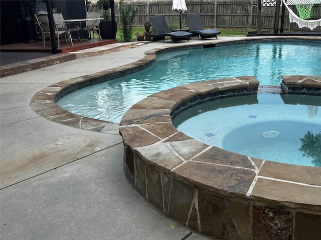
POLYGON ((150 16, 150 21, 156 33, 145 32, 145 35, 151 36, 152 41, 165 40, 165 36, 170 36, 174 42, 189 40, 189 37, 193 35, 187 31, 171 31, 164 15, 150 16))

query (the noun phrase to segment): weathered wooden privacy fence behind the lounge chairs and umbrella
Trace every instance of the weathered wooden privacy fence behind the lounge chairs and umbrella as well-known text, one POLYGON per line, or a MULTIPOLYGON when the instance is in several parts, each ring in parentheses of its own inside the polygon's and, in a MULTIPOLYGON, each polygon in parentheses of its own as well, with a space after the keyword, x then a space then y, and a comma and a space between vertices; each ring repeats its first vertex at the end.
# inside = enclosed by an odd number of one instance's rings
MULTIPOLYGON (((256 2, 256 0, 186 0, 187 12, 200 12, 205 27, 240 27, 248 29, 257 28, 258 8, 254 6, 254 3, 256 2)), ((179 13, 172 11, 172 0, 130 1, 124 2, 123 5, 131 5, 138 10, 134 19, 135 26, 142 26, 144 22, 149 21, 150 15, 158 14, 165 15, 166 21, 170 27, 171 25, 179 25, 179 13)), ((297 13, 295 5, 290 7, 297 13)), ((91 11, 95 10, 97 10, 97 7, 93 5, 91 11)), ((261 8, 262 28, 274 28, 275 10, 275 6, 261 8)), ((116 1, 115 18, 116 21, 120 22, 119 5, 116 1)), ((315 4, 311 10, 311 19, 318 18, 321 18, 321 4, 315 4)), ((183 23, 186 24, 184 19, 183 13, 183 23)), ((279 24, 280 22, 281 16, 279 24)), ((310 31, 308 28, 298 28, 296 23, 290 23, 287 9, 285 9, 284 30, 310 31)), ((321 30, 321 26, 314 28, 313 31, 319 30, 321 30)))

